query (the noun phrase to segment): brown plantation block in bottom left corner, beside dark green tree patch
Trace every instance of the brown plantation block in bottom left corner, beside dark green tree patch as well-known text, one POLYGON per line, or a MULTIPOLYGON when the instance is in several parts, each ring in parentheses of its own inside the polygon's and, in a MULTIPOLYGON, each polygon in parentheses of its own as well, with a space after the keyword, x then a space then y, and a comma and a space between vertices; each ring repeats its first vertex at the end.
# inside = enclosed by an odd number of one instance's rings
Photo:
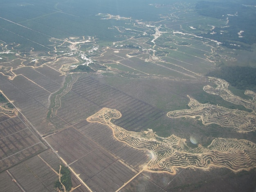
MULTIPOLYGON (((2 190, 12 191, 54 191, 54 182, 58 179, 58 168, 61 161, 46 150, 26 160, 6 172, 0 173, 2 190)), ((72 175, 76 192, 87 191, 72 175)))

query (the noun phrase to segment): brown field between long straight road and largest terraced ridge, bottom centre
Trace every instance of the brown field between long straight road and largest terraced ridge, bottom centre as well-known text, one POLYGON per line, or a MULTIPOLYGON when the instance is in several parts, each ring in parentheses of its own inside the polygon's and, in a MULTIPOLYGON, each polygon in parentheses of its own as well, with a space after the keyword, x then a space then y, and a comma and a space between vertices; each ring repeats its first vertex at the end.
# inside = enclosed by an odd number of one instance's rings
POLYGON ((144 151, 113 138, 107 126, 81 121, 74 127, 78 130, 70 127, 46 140, 94 191, 119 189, 149 161, 144 151))

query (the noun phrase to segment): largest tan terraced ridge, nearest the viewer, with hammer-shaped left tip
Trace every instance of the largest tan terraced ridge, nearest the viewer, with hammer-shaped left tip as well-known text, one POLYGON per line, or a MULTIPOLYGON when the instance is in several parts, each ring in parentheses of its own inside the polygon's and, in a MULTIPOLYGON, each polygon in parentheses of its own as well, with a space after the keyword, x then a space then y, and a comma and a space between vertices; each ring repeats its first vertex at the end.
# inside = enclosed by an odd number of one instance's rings
POLYGON ((90 123, 101 123, 112 129, 113 136, 123 143, 140 150, 148 150, 152 156, 143 170, 176 174, 178 168, 226 167, 233 172, 256 167, 256 145, 251 141, 215 138, 207 147, 191 148, 186 140, 171 135, 157 136, 151 129, 137 133, 126 131, 111 122, 121 118, 116 109, 103 108, 87 118, 90 123))

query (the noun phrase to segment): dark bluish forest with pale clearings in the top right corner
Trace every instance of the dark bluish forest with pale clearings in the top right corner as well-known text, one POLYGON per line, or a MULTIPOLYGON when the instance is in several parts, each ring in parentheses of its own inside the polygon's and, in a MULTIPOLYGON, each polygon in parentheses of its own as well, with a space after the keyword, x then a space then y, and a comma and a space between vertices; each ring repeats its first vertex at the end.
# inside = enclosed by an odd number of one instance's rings
POLYGON ((222 42, 224 46, 232 49, 249 50, 250 46, 243 45, 243 43, 247 45, 256 43, 256 8, 254 6, 245 6, 244 3, 231 1, 198 2, 195 9, 200 15, 224 20, 228 18, 229 20, 225 29, 216 27, 214 29, 215 34, 211 34, 213 31, 208 31, 208 33, 200 33, 198 35, 222 42), (239 31, 244 31, 243 38, 239 38, 239 31), (238 44, 239 47, 230 44, 238 44))

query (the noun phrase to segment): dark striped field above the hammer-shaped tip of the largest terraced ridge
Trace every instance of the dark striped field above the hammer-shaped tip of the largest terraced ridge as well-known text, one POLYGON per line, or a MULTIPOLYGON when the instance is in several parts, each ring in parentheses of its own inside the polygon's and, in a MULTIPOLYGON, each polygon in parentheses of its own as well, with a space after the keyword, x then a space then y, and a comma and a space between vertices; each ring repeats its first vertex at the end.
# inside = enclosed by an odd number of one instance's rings
MULTIPOLYGON (((74 125, 83 121, 97 109, 103 106, 116 107, 126 116, 120 123, 127 129, 139 130, 147 124, 163 115, 161 111, 154 107, 132 98, 117 89, 104 85, 96 79, 85 76, 80 77, 73 85, 70 92, 61 98, 61 104, 56 112, 56 118, 60 117, 69 125, 74 125), (77 102, 79 101, 79 102, 77 102), (72 110, 71 108, 76 108, 72 110), (133 116, 136 113, 137 116, 133 116)), ((52 120, 54 123, 54 121, 52 120)), ((60 122, 58 122, 60 123, 60 122)), ((60 127, 60 125, 56 126, 60 127)))

